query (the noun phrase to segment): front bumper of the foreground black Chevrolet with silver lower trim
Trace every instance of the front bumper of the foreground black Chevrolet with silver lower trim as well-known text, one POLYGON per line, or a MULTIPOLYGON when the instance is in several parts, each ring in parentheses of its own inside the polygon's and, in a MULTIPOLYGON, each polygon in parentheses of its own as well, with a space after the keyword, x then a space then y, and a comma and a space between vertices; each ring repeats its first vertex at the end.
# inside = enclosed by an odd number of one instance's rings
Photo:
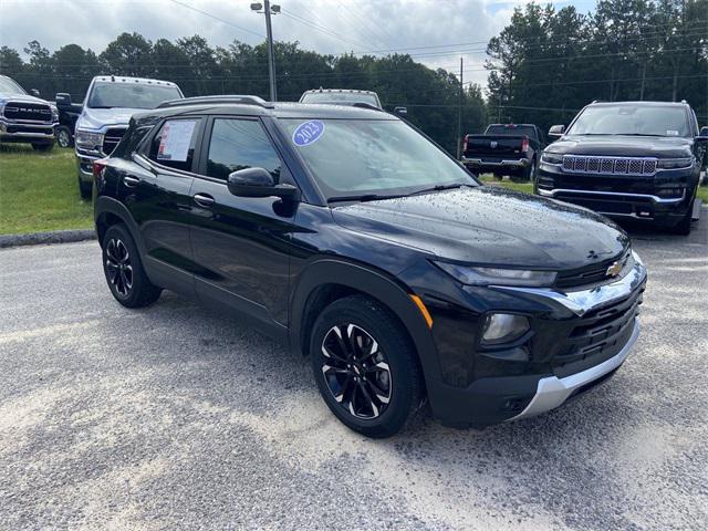
POLYGON ((504 352, 473 346, 475 313, 462 320, 452 316, 458 309, 442 313, 434 308, 442 371, 442 382, 426 378, 434 416, 457 427, 499 424, 548 412, 604 382, 637 340, 646 278, 635 254, 624 277, 586 289, 486 288, 490 302, 477 314, 477 323, 485 311, 522 313, 532 323, 530 337, 504 352), (523 350, 528 358, 514 360, 523 350), (446 381, 446 371, 454 376, 467 373, 469 379, 446 381))

